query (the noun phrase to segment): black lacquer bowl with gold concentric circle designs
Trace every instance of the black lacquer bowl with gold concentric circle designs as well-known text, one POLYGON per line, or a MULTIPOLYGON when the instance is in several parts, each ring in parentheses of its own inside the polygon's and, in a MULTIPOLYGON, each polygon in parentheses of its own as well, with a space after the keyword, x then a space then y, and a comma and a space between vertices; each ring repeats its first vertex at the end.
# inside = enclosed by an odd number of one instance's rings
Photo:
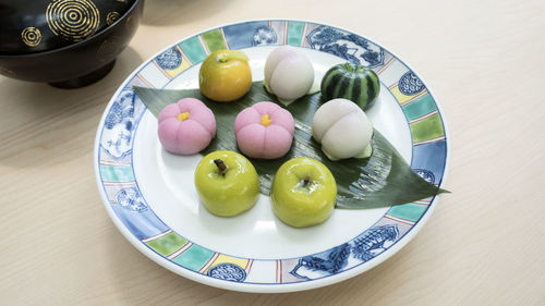
MULTIPOLYGON (((98 10, 100 1, 95 2, 98 4, 94 4, 92 0, 52 0, 46 5, 46 14, 41 16, 25 15, 25 17, 11 19, 12 22, 19 22, 19 27, 24 26, 21 21, 25 19, 34 19, 36 23, 38 20, 48 19, 49 23, 46 24, 47 27, 41 27, 43 30, 32 26, 25 27, 24 29, 31 28, 26 32, 22 29, 17 38, 24 44, 15 41, 14 35, 7 37, 0 34, 2 39, 0 40, 0 74, 22 81, 49 83, 62 88, 82 87, 107 75, 113 68, 117 56, 129 45, 136 32, 144 0, 111 0, 111 2, 126 3, 128 8, 124 12, 110 14, 109 20, 102 21, 100 17, 105 14, 108 16, 108 14, 100 11, 95 20, 89 15, 82 17, 81 14, 89 14, 89 10, 84 10, 89 5, 98 10), (87 7, 80 11, 66 9, 70 3, 86 3, 87 7), (48 9, 58 16, 62 15, 65 24, 60 24, 60 21, 52 16, 53 13, 47 12, 48 9), (78 21, 81 24, 76 23, 78 21), (93 27, 94 32, 85 33, 84 27, 93 27), (38 35, 40 37, 37 38, 38 35), (72 38, 70 35, 73 35, 72 38), (35 49, 29 46, 36 42, 38 45, 34 47, 43 45, 41 51, 34 51, 35 49)), ((17 11, 0 3, 0 16, 9 13, 13 14, 17 11)), ((9 19, 2 17, 2 20, 0 23, 5 23, 9 19)), ((14 28, 4 24, 1 26, 2 33, 8 32, 4 29, 14 28)))

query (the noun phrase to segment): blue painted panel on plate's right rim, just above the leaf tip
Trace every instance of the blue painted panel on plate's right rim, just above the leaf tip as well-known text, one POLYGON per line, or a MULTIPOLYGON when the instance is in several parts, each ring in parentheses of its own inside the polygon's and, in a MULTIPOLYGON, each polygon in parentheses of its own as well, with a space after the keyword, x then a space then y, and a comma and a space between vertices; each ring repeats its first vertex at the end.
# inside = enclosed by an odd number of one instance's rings
POLYGON ((445 172, 447 143, 440 140, 415 146, 412 149, 412 156, 411 168, 429 171, 434 178, 434 183, 438 184, 445 172))

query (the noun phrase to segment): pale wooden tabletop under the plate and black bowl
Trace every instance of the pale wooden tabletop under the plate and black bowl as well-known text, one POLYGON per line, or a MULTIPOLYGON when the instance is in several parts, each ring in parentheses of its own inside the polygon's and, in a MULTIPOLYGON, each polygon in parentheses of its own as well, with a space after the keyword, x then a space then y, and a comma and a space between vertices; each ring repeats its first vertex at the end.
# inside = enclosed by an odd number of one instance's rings
POLYGON ((544 2, 389 2, 148 0, 100 82, 63 90, 0 77, 0 304, 545 305, 544 2), (415 68, 447 118, 453 192, 386 262, 274 295, 154 264, 110 221, 93 170, 100 115, 137 65, 196 32, 269 17, 347 28, 415 68))

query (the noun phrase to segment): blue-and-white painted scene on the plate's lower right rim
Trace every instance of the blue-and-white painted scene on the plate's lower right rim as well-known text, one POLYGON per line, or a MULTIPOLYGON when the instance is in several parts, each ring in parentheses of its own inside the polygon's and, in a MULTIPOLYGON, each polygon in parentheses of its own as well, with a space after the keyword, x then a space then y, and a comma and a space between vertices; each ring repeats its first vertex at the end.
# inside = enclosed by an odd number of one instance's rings
POLYGON ((363 262, 373 259, 388 248, 385 243, 391 244, 398 236, 397 225, 372 228, 349 243, 300 258, 290 273, 306 280, 338 273, 348 266, 351 258, 363 262))

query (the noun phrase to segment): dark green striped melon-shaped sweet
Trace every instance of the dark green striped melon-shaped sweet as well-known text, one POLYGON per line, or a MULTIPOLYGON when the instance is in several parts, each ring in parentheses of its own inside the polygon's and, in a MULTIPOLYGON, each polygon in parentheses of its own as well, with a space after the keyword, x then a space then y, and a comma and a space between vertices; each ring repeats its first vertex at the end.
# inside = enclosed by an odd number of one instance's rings
POLYGON ((368 109, 380 93, 378 76, 371 69, 353 63, 330 68, 322 78, 324 101, 336 98, 349 99, 363 110, 368 109))

